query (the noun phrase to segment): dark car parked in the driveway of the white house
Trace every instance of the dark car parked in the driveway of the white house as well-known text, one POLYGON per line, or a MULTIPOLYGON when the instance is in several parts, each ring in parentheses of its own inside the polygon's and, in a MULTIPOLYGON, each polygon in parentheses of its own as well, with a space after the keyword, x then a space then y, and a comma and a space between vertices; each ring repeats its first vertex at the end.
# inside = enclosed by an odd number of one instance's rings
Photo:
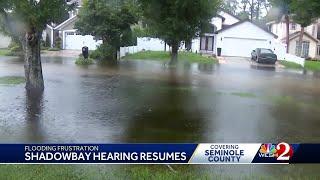
POLYGON ((257 48, 252 51, 251 60, 257 63, 275 64, 277 55, 271 49, 257 48))

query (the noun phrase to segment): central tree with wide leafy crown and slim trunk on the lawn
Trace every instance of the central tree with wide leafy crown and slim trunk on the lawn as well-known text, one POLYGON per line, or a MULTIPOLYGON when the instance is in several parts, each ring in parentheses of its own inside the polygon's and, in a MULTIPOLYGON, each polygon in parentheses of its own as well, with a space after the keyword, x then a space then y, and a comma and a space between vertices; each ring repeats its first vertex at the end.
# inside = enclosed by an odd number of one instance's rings
POLYGON ((157 37, 171 46, 176 63, 182 41, 190 42, 208 27, 220 0, 139 0, 143 16, 157 37))

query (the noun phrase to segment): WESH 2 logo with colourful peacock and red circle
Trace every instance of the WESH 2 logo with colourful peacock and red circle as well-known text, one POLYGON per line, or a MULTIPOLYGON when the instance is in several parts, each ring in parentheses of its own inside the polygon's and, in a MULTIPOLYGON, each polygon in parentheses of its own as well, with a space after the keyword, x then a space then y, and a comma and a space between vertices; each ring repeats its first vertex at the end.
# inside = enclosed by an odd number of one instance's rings
POLYGON ((265 158, 277 158, 278 161, 289 161, 293 156, 293 148, 288 143, 262 144, 259 156, 265 158))

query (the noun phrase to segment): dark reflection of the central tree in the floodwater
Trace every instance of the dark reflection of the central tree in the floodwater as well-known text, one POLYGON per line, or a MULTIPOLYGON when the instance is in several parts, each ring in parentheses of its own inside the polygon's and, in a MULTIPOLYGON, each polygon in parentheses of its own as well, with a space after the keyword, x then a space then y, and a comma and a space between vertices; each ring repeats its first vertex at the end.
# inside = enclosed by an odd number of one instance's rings
POLYGON ((168 81, 154 84, 149 96, 137 102, 144 108, 128 120, 125 142, 200 142, 206 123, 190 83, 189 75, 181 78, 170 69, 168 81))

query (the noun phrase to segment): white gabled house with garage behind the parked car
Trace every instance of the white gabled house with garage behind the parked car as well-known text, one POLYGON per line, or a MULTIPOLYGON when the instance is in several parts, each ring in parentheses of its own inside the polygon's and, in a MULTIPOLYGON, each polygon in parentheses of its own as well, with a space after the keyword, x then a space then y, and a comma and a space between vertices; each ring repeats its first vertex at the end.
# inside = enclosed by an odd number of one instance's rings
POLYGON ((251 57, 256 48, 277 50, 277 36, 249 20, 221 11, 211 24, 211 32, 200 37, 201 53, 251 57))

